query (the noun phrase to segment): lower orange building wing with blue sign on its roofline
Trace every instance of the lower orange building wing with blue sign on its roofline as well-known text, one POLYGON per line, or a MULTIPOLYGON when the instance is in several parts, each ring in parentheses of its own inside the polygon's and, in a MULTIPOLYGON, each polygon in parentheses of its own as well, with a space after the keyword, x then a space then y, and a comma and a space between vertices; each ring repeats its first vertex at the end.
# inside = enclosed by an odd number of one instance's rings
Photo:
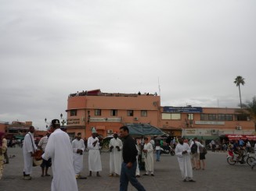
POLYGON ((254 135, 254 122, 238 108, 161 107, 160 128, 171 136, 216 140, 220 136, 254 135))

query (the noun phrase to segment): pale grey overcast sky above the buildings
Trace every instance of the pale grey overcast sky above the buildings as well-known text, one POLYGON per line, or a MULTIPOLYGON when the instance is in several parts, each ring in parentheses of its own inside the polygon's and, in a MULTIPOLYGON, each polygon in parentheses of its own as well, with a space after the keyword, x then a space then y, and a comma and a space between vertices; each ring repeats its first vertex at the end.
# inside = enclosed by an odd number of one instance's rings
POLYGON ((0 0, 0 121, 44 129, 82 90, 160 94, 161 106, 255 96, 256 1, 0 0))

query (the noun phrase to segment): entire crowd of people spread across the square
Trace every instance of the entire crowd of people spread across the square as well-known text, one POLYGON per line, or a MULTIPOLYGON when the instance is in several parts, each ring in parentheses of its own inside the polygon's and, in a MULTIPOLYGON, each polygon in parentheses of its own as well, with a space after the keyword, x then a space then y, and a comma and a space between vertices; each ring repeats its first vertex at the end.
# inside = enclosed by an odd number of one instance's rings
MULTIPOLYGON (((7 141, 4 133, 0 133, 0 179, 2 178, 4 154, 7 150, 7 141)), ((23 179, 31 180, 33 171, 33 160, 37 150, 42 150, 41 155, 41 177, 51 176, 49 168, 52 167, 52 185, 51 190, 78 190, 76 179, 87 179, 81 175, 84 168, 84 154, 88 149, 88 176, 102 171, 101 163, 101 143, 97 137, 98 133, 92 127, 92 136, 87 141, 81 139, 81 133, 78 133, 74 140, 62 129, 58 119, 53 119, 51 126, 47 130, 46 136, 42 137, 38 145, 34 143, 34 126, 31 126, 29 132, 23 140, 23 179)), ((109 143, 110 153, 110 177, 120 177, 120 190, 127 190, 128 182, 131 182, 137 190, 146 190, 137 178, 140 177, 140 168, 144 164, 145 176, 155 176, 154 157, 160 161, 160 153, 164 147, 175 150, 178 158, 178 165, 182 175, 183 182, 196 182, 193 179, 193 170, 205 170, 207 149, 202 140, 194 137, 193 140, 184 138, 173 138, 172 140, 153 140, 153 137, 143 137, 143 139, 134 139, 129 135, 127 126, 120 128, 120 134, 114 133, 114 137, 109 143), (119 138, 120 136, 120 138, 119 138), (139 168, 139 163, 140 168, 139 168)), ((251 150, 251 143, 248 140, 225 141, 227 150, 233 150, 236 154, 241 154, 241 150, 251 150)), ((211 150, 215 152, 216 142, 212 140, 211 150)), ((256 144, 255 144, 256 146, 256 144)), ((254 147, 256 150, 256 147, 254 147)), ((7 162, 6 162, 7 163, 7 162)), ((254 168, 254 165, 252 168, 254 168)))

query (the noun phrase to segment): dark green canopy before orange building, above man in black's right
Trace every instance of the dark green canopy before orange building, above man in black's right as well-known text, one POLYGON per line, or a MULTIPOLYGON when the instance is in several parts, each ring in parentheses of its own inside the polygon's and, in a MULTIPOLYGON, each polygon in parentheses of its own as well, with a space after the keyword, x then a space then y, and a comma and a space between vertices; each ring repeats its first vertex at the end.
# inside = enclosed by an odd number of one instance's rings
POLYGON ((150 124, 129 124, 127 125, 130 135, 136 136, 157 136, 165 133, 155 126, 150 124))

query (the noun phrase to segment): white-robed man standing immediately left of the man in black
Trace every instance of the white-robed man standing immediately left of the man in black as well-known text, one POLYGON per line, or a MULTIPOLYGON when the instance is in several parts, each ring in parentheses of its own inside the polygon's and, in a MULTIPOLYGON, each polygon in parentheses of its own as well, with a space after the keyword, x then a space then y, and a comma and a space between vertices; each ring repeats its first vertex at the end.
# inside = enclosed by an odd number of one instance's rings
POLYGON ((114 138, 110 140, 110 176, 121 175, 123 143, 114 133, 114 138))

